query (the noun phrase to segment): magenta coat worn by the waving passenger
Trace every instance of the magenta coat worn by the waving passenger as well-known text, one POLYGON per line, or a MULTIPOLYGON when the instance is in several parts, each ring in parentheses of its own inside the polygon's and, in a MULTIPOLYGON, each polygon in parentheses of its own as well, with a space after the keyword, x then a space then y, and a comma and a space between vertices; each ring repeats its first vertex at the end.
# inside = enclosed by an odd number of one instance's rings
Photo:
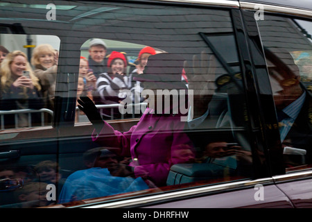
POLYGON ((101 146, 118 148, 117 154, 131 156, 135 176, 151 180, 158 187, 166 185, 173 164, 195 157, 193 144, 183 132, 185 122, 180 114, 152 114, 146 109, 137 125, 128 132, 114 130, 105 122, 99 135, 92 139, 101 146))

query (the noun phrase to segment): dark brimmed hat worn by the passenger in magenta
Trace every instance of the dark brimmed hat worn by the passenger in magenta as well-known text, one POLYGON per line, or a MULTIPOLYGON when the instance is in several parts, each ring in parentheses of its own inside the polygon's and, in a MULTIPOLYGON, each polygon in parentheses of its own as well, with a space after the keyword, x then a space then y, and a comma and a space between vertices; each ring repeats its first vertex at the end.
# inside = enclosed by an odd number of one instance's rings
POLYGON ((187 89, 182 83, 184 58, 171 53, 159 53, 148 58, 143 74, 134 80, 145 82, 148 89, 187 89))

